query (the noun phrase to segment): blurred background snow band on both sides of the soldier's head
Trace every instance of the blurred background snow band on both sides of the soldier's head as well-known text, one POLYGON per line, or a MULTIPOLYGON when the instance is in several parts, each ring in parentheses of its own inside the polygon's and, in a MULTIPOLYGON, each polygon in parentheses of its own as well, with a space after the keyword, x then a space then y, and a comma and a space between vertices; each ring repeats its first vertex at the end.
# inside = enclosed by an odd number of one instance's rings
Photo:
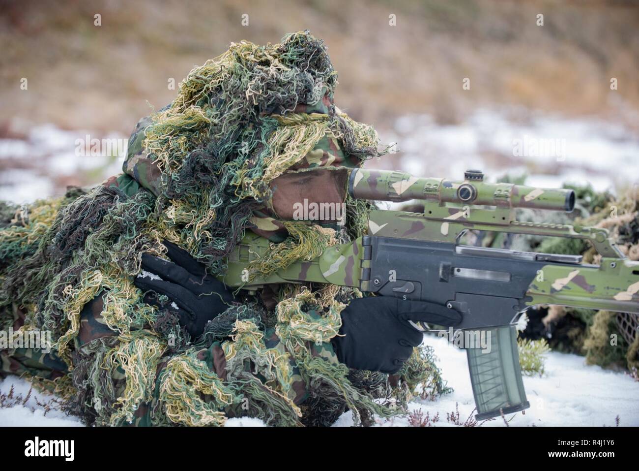
MULTIPOLYGON (((380 136, 396 143, 399 153, 373 159, 369 168, 454 180, 463 179, 468 168, 479 168, 488 181, 527 173, 532 186, 589 182, 597 191, 639 185, 639 135, 597 118, 486 108, 455 124, 437 123, 427 114, 403 116, 380 129, 380 136)), ((65 131, 51 124, 0 139, 0 200, 28 203, 61 195, 68 184, 97 184, 116 175, 126 140, 115 133, 65 131), (97 154, 94 140, 100 141, 97 154)))

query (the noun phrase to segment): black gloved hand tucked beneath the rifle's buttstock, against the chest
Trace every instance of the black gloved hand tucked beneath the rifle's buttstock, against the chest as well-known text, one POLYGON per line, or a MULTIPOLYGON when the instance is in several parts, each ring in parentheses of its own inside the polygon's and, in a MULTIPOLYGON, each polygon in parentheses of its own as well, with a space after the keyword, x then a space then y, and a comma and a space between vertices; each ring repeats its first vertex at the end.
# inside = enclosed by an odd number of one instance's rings
POLYGON ((235 298, 224 283, 207 275, 204 266, 189 252, 168 241, 164 245, 173 263, 142 253, 142 273, 134 284, 142 291, 166 295, 168 305, 162 305, 157 297, 145 296, 144 300, 177 312, 180 325, 195 339, 203 333, 206 323, 224 312, 235 298))

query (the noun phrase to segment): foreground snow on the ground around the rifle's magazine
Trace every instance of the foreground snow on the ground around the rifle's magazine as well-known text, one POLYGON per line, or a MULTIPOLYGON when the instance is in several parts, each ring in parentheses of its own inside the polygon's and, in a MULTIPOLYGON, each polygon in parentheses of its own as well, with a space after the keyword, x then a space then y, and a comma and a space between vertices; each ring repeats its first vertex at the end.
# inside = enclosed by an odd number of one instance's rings
MULTIPOLYGON (((437 365, 442 377, 454 389, 435 401, 418 400, 409 404, 410 410, 422 410, 429 417, 439 413, 435 426, 452 426, 446 414, 459 408, 459 419, 465 422, 474 416, 472 388, 466 353, 451 346, 447 339, 426 336, 424 345, 435 348, 439 358, 437 365)), ((606 371, 598 366, 585 364, 583 356, 550 352, 546 354, 544 376, 523 377, 530 408, 507 415, 509 426, 615 426, 619 415, 621 426, 639 426, 639 381, 622 372, 606 371), (512 420, 511 420, 512 419, 512 420)), ((346 412, 335 426, 350 426, 353 419, 346 412)), ((381 426, 407 426, 408 418, 378 420, 381 426)), ((482 425, 505 426, 501 418, 489 420, 482 425)))

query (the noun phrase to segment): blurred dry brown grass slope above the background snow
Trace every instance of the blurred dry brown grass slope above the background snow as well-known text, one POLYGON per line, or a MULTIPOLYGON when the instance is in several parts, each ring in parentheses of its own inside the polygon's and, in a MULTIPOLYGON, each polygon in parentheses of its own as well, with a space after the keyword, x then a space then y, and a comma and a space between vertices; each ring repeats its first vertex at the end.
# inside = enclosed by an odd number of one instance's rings
POLYGON ((231 41, 309 28, 340 73, 336 102, 381 126, 405 113, 456 122, 521 104, 636 124, 639 8, 631 1, 0 0, 0 122, 128 133, 231 41), (102 26, 93 15, 102 14, 102 26), (241 25, 248 13, 250 26, 241 25), (389 26, 389 14, 397 26, 389 26), (544 26, 535 15, 544 14, 544 26), (27 77, 29 90, 19 89, 27 77), (461 88, 470 77, 471 90, 461 88), (610 77, 619 90, 610 90, 610 77), (628 109, 629 111, 624 111, 628 109))

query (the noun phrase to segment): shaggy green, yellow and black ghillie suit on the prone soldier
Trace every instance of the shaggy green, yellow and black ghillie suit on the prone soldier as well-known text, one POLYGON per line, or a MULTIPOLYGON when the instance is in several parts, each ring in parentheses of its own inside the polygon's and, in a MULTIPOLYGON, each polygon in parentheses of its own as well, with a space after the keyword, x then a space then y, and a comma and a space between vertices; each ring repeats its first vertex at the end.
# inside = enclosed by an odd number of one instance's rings
MULTIPOLYGON (((227 417, 327 425, 402 413, 415 386, 445 391, 432 357, 415 351, 390 378, 349 371, 330 339, 362 296, 327 285, 238 292, 191 339, 167 302, 144 302, 133 282, 141 254, 163 240, 213 275, 247 230, 268 237, 267 273, 364 233, 366 202, 346 197, 350 168, 378 156, 373 128, 335 108, 337 84, 322 42, 307 32, 281 44, 231 44, 194 68, 176 99, 144 118, 125 173, 88 193, 3 207, 0 319, 46 330, 53 350, 0 351, 4 372, 54 390, 87 424, 220 425, 227 417), (334 221, 293 221, 291 204, 343 203, 334 221)), ((162 298, 160 296, 160 298, 162 298)))

